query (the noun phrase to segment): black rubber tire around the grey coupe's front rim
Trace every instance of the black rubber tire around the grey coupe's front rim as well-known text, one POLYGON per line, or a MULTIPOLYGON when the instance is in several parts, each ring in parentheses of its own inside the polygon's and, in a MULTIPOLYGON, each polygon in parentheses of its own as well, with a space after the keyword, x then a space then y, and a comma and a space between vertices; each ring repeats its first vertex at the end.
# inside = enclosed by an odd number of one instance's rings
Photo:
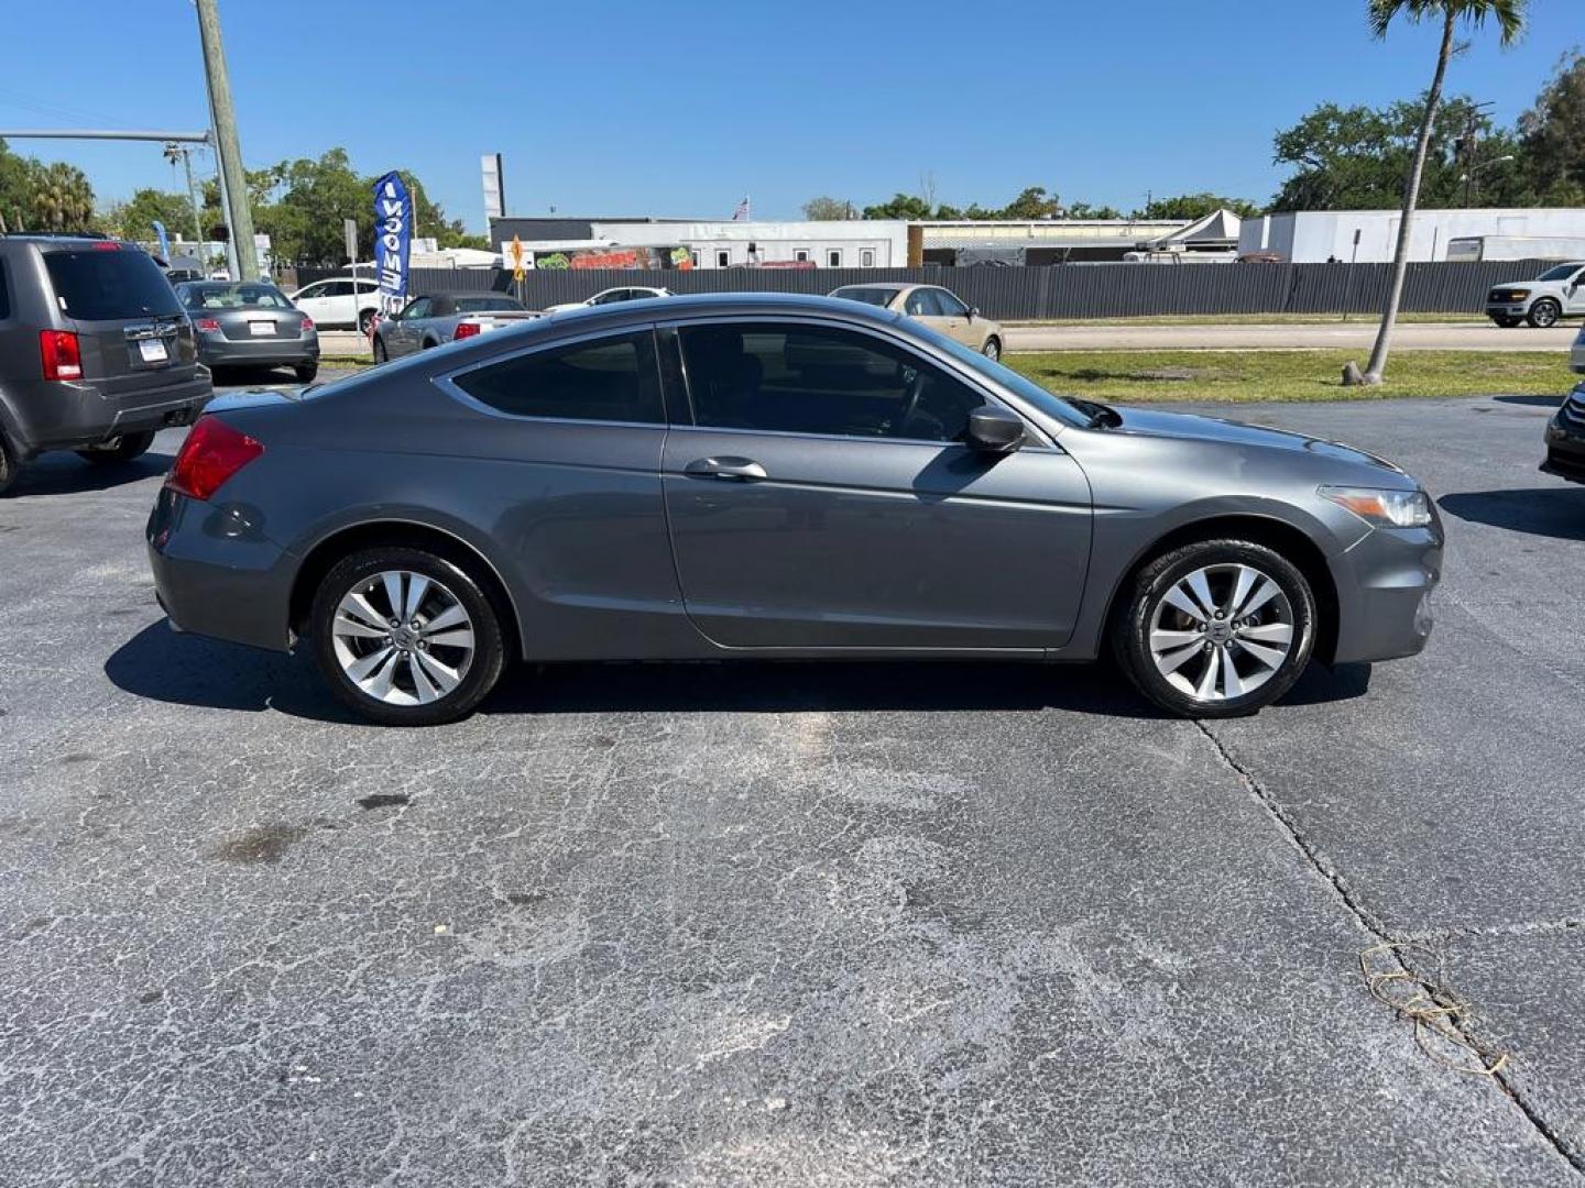
MULTIPOLYGON (((1258 597, 1263 589, 1258 581, 1252 584, 1246 596, 1246 605, 1249 599, 1258 597)), ((1200 599, 1195 599, 1195 602, 1200 602, 1200 599)), ((1181 718, 1243 718, 1271 705, 1271 702, 1293 687, 1293 681, 1304 672, 1304 665, 1309 664, 1309 657, 1314 653, 1316 623, 1316 596, 1309 583, 1279 553, 1249 540, 1203 540, 1174 548, 1155 558, 1133 577, 1121 596, 1119 613, 1111 632, 1111 645, 1117 662, 1133 686, 1168 713, 1181 718), (1182 643, 1182 653, 1176 651, 1176 643, 1165 645, 1162 661, 1171 664, 1173 659, 1178 659, 1181 667, 1173 675, 1163 675, 1157 667, 1157 657, 1151 648, 1152 624, 1157 621, 1157 611, 1160 610, 1163 623, 1168 616, 1179 619, 1179 623, 1163 626, 1162 630, 1176 630, 1178 635, 1194 635, 1192 619, 1178 611, 1176 604, 1167 602, 1168 596, 1173 594, 1179 581, 1186 581, 1198 570, 1213 570, 1209 581, 1225 584, 1220 584, 1220 588, 1213 584, 1208 589, 1213 594, 1213 602, 1225 607, 1224 599, 1230 600, 1232 591, 1236 586, 1238 570, 1235 567, 1254 569, 1258 575, 1274 581, 1282 600, 1279 602, 1276 596, 1271 596, 1249 619, 1241 621, 1252 624, 1249 627, 1239 627, 1236 616, 1222 616, 1220 607, 1213 615, 1201 615, 1206 632, 1200 638, 1206 640, 1208 635, 1216 634, 1225 643, 1190 640, 1182 643), (1257 618, 1260 619, 1258 623, 1255 623, 1257 618), (1244 642, 1244 637, 1239 634, 1243 630, 1263 632, 1260 638, 1270 640, 1270 632, 1284 624, 1289 627, 1289 651, 1281 664, 1276 665, 1262 662, 1249 649, 1249 642, 1244 642), (1206 651, 1206 648, 1211 651, 1206 651), (1233 665, 1233 673, 1239 684, 1255 676, 1262 676, 1262 683, 1252 692, 1232 695, 1227 692, 1230 684, 1225 675, 1220 673, 1220 664, 1233 665), (1200 678, 1213 665, 1217 665, 1217 668, 1211 675, 1211 695, 1200 697, 1197 695, 1200 678), (1239 672, 1239 667, 1243 667, 1243 672, 1239 672), (1224 692, 1220 694, 1216 689, 1219 681, 1224 684, 1224 692), (1184 689, 1184 683, 1197 687, 1184 689)), ((1255 648, 1266 654, 1274 651, 1265 642, 1255 643, 1255 648)))

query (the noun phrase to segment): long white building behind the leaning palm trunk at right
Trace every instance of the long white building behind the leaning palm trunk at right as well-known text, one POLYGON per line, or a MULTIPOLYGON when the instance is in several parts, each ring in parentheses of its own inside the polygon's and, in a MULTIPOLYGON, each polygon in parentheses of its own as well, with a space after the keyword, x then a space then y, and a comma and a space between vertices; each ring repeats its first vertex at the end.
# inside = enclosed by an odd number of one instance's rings
MULTIPOLYGON (((1400 217, 1400 211, 1293 211, 1257 215, 1244 220, 1238 252, 1271 252, 1293 265, 1323 265, 1328 260, 1390 263, 1398 246, 1400 217)), ((1419 211, 1409 234, 1409 260, 1446 260, 1450 239, 1474 236, 1585 238, 1585 209, 1419 211)))

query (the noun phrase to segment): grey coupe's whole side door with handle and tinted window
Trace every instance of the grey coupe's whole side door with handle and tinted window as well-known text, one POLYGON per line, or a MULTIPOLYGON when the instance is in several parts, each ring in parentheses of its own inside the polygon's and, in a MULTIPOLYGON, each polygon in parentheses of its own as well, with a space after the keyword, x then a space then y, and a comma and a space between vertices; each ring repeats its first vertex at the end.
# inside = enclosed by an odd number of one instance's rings
POLYGON ((691 425, 663 459, 683 604, 726 648, 1038 653, 1071 634, 1089 483, 1030 429, 964 444, 994 398, 900 337, 812 320, 677 323, 691 425))

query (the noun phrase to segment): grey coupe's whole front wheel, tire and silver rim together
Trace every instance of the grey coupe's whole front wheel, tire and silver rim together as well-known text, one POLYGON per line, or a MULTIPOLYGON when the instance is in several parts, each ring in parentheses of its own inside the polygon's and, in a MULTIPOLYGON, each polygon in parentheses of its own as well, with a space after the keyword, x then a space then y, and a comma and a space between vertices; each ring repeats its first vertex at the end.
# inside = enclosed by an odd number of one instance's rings
POLYGON ((1184 718, 1251 714, 1285 694, 1316 646, 1316 596, 1279 553, 1205 540, 1133 578, 1113 646, 1133 684, 1184 718))

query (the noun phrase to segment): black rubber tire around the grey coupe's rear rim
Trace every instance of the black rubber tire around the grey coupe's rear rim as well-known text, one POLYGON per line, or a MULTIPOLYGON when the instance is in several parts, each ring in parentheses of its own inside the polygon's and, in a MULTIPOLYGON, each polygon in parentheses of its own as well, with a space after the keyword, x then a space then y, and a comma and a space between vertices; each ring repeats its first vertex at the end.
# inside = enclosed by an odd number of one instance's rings
MULTIPOLYGON (((425 604, 425 607, 433 604, 425 604)), ((398 613, 399 616, 406 611, 398 613)), ((414 623, 425 611, 414 618, 414 623)), ((388 623, 388 619, 387 619, 388 623)), ((406 624, 404 624, 406 626, 406 624)), ((506 665, 506 642, 501 634, 501 621, 495 604, 480 589, 479 583, 460 565, 445 558, 436 556, 422 548, 380 546, 368 548, 339 561, 331 567, 325 580, 319 583, 311 611, 311 630, 314 635, 314 659, 320 673, 349 708, 376 722, 385 725, 439 725, 466 718, 474 706, 482 702, 495 687, 506 665), (376 610, 388 611, 388 599, 384 596, 382 583, 376 580, 387 572, 404 572, 428 578, 431 591, 439 591, 455 599, 468 615, 468 626, 472 629, 472 656, 461 668, 461 680, 453 689, 430 702, 393 703, 366 692, 342 668, 342 653, 338 651, 334 624, 338 608, 352 591, 365 588, 366 599, 376 610), (377 602, 384 599, 384 602, 377 602)), ((390 648, 382 640, 342 640, 341 648, 352 654, 352 648, 366 648, 358 653, 358 659, 366 659, 376 651, 390 648)), ((396 692, 415 697, 417 684, 414 667, 418 665, 417 649, 403 651, 390 659, 391 684, 396 692)), ((431 659, 442 659, 456 664, 452 653, 431 651, 431 659)), ((418 665, 422 667, 422 665, 418 665)), ((433 683, 431 683, 433 687, 433 683)))

